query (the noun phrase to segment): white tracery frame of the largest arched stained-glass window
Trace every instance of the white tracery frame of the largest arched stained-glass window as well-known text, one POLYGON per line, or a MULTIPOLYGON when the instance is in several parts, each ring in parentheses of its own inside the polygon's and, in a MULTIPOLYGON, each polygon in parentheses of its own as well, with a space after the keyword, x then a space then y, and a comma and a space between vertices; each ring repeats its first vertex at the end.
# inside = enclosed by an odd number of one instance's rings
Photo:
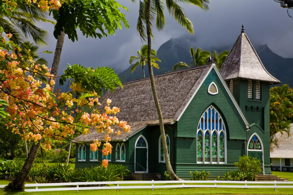
MULTIPOLYGON (((208 118, 208 116, 207 116, 207 118, 208 118)), ((212 119, 212 116, 210 117, 211 119, 212 119)), ((198 122, 198 126, 197 126, 197 132, 196 132, 196 160, 197 160, 197 134, 198 134, 198 132, 199 131, 201 131, 202 132, 202 162, 197 162, 198 164, 202 164, 202 163, 204 163, 204 164, 226 164, 227 163, 227 136, 226 136, 226 127, 225 127, 225 124, 224 124, 224 120, 223 120, 223 118, 222 118, 222 116, 220 115, 220 113, 217 111, 217 109, 214 107, 214 106, 209 106, 209 108, 207 108, 204 112, 203 112, 203 114, 202 114, 202 116, 200 117, 200 120, 199 120, 199 122, 198 122), (209 114, 209 112, 208 112, 208 110, 210 109, 210 114, 212 115, 212 109, 214 108, 214 115, 216 115, 216 113, 218 113, 218 122, 217 122, 217 125, 218 125, 218 129, 216 130, 216 122, 214 122, 214 127, 213 127, 213 130, 212 131, 210 131, 208 128, 209 128, 209 125, 208 125, 208 121, 207 121, 207 129, 206 130, 203 130, 204 128, 205 128, 205 113, 207 113, 207 115, 209 114), (198 129, 198 126, 200 125, 200 122, 201 122, 201 119, 203 118, 203 122, 202 122, 202 126, 203 126, 203 129, 201 129, 201 128, 199 128, 198 129), (220 123, 219 123, 219 120, 222 120, 222 123, 221 123, 221 125, 222 125, 222 127, 220 127, 220 123), (221 130, 220 130, 221 129, 221 130), (209 136, 209 138, 210 138, 210 161, 209 162, 205 162, 205 133, 206 132, 209 132, 209 134, 210 134, 210 136, 209 136), (214 131, 217 131, 217 146, 218 146, 218 151, 217 151, 217 153, 218 153, 218 162, 212 162, 212 133, 214 132, 214 131), (211 133, 212 132, 212 133, 211 133), (225 149, 224 149, 224 153, 225 153, 225 162, 220 162, 220 149, 219 149, 219 144, 220 144, 220 133, 221 132, 223 132, 224 133, 224 147, 225 147, 225 149)), ((211 126, 212 126, 212 124, 211 124, 211 126)), ((201 126, 200 126, 201 127, 201 126)))

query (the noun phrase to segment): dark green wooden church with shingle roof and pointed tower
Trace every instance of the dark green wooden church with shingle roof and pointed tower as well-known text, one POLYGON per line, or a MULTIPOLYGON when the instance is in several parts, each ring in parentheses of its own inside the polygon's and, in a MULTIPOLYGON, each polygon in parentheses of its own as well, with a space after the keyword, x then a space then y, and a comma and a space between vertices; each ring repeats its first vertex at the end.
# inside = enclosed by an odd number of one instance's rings
MULTIPOLYGON (((209 58, 206 65, 156 75, 155 82, 178 177, 189 179, 195 170, 209 171, 212 178, 223 176, 236 170, 234 163, 243 155, 260 159, 263 174, 268 174, 269 89, 280 81, 265 69, 243 28, 220 70, 209 58)), ((117 118, 127 121, 131 130, 110 134, 113 150, 108 156, 89 146, 104 134, 91 130, 77 137, 75 167, 100 165, 107 159, 127 166, 132 174, 164 177, 167 169, 150 79, 123 83, 100 102, 107 98, 120 108, 117 118)))

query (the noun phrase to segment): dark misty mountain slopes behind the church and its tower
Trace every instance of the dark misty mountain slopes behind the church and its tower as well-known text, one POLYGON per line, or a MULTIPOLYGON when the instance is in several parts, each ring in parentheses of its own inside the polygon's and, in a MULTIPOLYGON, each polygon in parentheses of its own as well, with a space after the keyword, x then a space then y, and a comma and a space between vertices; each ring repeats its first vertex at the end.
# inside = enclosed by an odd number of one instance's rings
MULTIPOLYGON (((253 43, 252 43, 253 44, 253 43)), ((213 52, 217 50, 222 52, 226 49, 231 50, 233 45, 225 46, 212 46, 200 43, 194 36, 183 36, 176 39, 170 39, 163 43, 158 51, 157 57, 161 60, 158 62, 159 69, 153 68, 154 75, 171 72, 173 66, 178 62, 185 62, 189 64, 191 56, 189 54, 190 47, 197 49, 200 47, 202 50, 209 50, 213 52)), ((270 50, 267 44, 254 45, 254 48, 260 57, 265 68, 270 74, 282 82, 282 84, 289 84, 293 87, 293 58, 283 58, 270 50)), ((144 66, 145 76, 149 77, 147 65, 144 66)), ((131 65, 129 68, 120 73, 119 78, 122 82, 140 79, 142 75, 142 66, 138 66, 133 73, 131 73, 131 65)))

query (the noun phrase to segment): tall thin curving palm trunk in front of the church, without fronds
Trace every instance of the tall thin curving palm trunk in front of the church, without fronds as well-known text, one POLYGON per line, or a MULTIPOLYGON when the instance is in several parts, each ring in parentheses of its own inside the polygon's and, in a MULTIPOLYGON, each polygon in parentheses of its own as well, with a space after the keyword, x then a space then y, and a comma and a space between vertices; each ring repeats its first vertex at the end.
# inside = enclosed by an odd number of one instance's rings
POLYGON ((160 130, 161 130, 161 137, 162 137, 162 141, 163 141, 163 150, 164 150, 164 155, 165 155, 165 162, 166 162, 166 167, 168 170, 168 173, 170 175, 170 177, 172 178, 172 180, 181 180, 179 177, 177 177, 177 175, 174 173, 171 163, 170 163, 170 158, 169 158, 169 153, 168 153, 168 149, 167 149, 167 142, 166 142, 166 135, 165 135, 165 130, 164 130, 164 124, 163 124, 163 115, 162 115, 162 111, 161 111, 161 107, 159 104, 159 98, 158 98, 158 94, 156 91, 156 84, 155 84, 155 78, 154 78, 154 73, 153 73, 153 67, 151 64, 151 26, 150 26, 150 1, 146 1, 147 4, 147 9, 146 9, 146 23, 147 23, 147 58, 148 58, 148 67, 149 67, 149 76, 151 79, 151 89, 153 91, 153 95, 154 95, 154 101, 156 104, 156 109, 157 109, 157 113, 158 113, 158 117, 159 117, 159 123, 160 123, 160 130))

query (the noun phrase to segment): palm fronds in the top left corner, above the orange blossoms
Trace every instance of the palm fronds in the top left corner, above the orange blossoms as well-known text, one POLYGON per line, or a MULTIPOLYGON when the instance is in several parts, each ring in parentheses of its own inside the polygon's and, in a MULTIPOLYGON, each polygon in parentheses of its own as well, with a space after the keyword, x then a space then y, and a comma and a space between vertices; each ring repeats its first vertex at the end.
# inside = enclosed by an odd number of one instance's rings
POLYGON ((32 38, 38 46, 47 45, 48 32, 37 27, 36 23, 40 22, 55 24, 54 21, 48 19, 48 13, 43 13, 35 3, 29 6, 24 1, 17 6, 16 11, 11 12, 11 15, 5 15, 5 12, 0 13, 0 26, 6 34, 13 34, 10 40, 21 48, 25 39, 28 38, 32 38))

